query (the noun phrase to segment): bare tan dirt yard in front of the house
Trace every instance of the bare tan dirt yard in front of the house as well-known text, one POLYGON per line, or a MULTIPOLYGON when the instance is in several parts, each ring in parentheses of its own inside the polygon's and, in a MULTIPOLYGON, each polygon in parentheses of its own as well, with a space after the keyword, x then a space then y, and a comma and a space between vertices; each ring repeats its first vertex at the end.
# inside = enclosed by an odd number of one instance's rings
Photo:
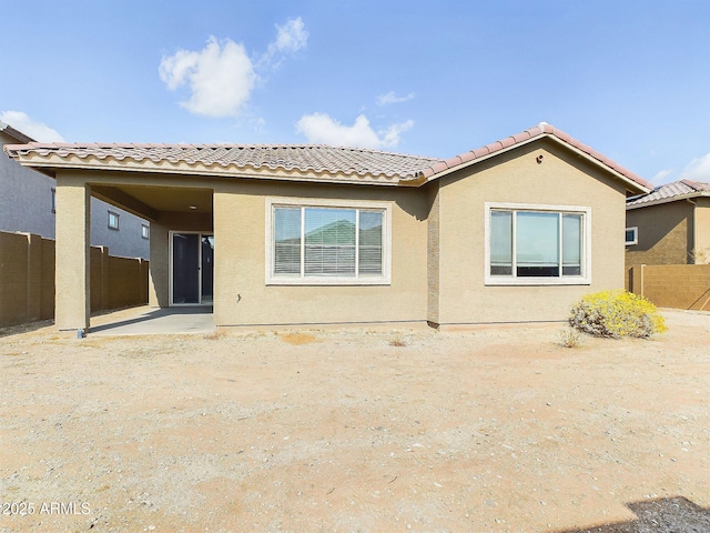
POLYGON ((707 531, 710 313, 663 314, 578 349, 560 325, 0 331, 0 531, 571 532, 673 496, 701 524, 674 531, 707 531))

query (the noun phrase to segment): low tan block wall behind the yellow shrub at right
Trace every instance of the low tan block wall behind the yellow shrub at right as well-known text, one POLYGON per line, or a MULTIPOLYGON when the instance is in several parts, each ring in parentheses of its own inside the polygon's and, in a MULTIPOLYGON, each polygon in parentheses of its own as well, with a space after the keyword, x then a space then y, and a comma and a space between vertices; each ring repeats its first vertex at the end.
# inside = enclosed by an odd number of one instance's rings
POLYGON ((629 289, 661 308, 710 311, 710 264, 647 264, 630 269, 629 289))

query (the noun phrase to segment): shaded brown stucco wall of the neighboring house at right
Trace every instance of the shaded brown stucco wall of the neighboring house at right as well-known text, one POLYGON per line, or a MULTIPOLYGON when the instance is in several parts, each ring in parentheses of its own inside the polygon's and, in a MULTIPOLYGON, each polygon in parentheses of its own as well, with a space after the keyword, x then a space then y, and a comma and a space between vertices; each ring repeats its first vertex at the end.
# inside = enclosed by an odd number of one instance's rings
POLYGON ((628 210, 627 228, 639 229, 639 242, 627 247, 627 270, 635 264, 692 262, 690 252, 693 249, 693 209, 692 203, 680 200, 628 210))

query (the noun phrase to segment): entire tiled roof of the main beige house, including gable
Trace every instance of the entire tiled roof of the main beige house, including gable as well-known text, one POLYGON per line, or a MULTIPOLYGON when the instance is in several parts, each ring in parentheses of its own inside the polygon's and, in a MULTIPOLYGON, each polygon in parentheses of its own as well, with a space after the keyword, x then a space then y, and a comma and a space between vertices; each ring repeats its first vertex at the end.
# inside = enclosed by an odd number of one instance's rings
POLYGON ((174 172, 203 175, 305 179, 338 183, 420 185, 529 142, 549 138, 610 171, 636 192, 652 185, 601 153, 545 122, 450 159, 357 148, 272 144, 9 144, 6 152, 29 167, 174 172))

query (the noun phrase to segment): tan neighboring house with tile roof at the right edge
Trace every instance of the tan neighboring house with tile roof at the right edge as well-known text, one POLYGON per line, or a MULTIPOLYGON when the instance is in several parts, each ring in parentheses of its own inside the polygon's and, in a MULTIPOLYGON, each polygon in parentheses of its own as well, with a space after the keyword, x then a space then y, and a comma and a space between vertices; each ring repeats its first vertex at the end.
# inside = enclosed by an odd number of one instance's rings
POLYGON ((626 204, 626 265, 710 263, 710 183, 681 180, 626 204))

